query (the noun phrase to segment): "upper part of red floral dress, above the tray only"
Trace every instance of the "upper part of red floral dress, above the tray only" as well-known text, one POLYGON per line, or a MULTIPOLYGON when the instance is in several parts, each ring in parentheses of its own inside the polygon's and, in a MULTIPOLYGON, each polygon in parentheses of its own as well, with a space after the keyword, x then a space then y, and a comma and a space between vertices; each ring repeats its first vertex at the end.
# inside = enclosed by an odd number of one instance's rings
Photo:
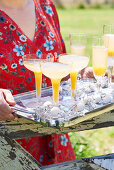
MULTIPOLYGON (((65 52, 54 5, 50 0, 35 0, 36 27, 31 41, 18 25, 3 11, 0 11, 0 88, 10 89, 13 94, 33 90, 34 74, 23 65, 22 56, 35 53, 47 58, 65 52)), ((43 77, 42 86, 50 85, 43 77)))

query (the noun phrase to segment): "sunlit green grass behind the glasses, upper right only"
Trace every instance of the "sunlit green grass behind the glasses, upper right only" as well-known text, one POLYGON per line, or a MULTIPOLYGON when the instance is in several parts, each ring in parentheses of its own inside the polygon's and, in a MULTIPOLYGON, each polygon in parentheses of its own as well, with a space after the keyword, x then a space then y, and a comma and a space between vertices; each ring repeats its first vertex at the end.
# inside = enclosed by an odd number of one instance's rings
MULTIPOLYGON (((87 54, 91 58, 92 36, 102 35, 103 25, 114 23, 114 10, 108 9, 57 9, 61 33, 70 52, 69 33, 85 32, 88 34, 87 54)), ((89 65, 91 65, 91 60, 89 65)))

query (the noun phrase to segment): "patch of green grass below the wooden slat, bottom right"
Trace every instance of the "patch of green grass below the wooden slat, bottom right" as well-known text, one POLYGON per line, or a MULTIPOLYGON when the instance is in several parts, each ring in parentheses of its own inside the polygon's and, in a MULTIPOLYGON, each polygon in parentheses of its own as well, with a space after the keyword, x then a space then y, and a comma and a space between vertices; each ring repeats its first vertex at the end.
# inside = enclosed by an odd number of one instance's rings
POLYGON ((114 127, 69 133, 77 159, 114 152, 114 127))

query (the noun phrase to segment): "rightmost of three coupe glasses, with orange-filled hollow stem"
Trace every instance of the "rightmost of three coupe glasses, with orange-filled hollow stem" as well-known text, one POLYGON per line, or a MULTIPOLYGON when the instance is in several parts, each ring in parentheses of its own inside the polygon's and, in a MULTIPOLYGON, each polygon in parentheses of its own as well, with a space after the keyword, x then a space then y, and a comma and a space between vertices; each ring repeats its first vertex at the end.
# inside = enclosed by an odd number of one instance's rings
POLYGON ((59 62, 70 66, 71 92, 72 97, 74 98, 76 93, 77 74, 88 65, 89 57, 76 54, 63 54, 59 56, 59 62))

